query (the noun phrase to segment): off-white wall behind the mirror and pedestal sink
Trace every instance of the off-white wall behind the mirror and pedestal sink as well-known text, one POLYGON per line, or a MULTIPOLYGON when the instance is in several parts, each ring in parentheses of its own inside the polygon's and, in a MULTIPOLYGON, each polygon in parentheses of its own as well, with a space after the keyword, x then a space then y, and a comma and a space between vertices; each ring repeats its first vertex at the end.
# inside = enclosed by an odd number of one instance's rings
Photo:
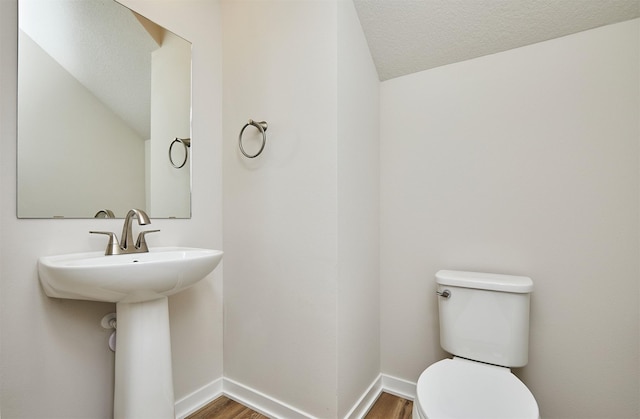
MULTIPOLYGON (((127 0, 193 42, 193 217, 153 220, 151 246, 222 248, 221 63, 216 2, 127 0)), ((18 220, 16 207, 17 5, 0 2, 0 379, 3 418, 109 418, 113 354, 101 317, 111 304, 55 300, 38 283, 41 255, 102 250, 91 229, 119 232, 121 220, 18 220), (97 223, 97 224, 96 224, 97 223)), ((175 395, 222 376, 222 266, 169 300, 175 395)))

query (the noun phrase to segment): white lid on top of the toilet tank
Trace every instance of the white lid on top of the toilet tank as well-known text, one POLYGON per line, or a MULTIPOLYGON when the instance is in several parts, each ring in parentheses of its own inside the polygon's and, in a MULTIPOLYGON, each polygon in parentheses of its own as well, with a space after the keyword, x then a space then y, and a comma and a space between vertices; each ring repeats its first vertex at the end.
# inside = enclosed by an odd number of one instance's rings
POLYGON ((533 281, 526 276, 440 270, 436 272, 436 282, 452 287, 521 294, 533 291, 533 281))

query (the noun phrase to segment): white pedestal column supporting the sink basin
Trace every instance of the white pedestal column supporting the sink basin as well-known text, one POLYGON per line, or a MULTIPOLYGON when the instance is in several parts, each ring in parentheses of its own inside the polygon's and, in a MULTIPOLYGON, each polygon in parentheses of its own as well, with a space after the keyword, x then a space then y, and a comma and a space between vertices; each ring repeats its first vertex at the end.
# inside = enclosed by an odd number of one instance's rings
POLYGON ((167 297, 117 303, 115 419, 174 419, 167 297))

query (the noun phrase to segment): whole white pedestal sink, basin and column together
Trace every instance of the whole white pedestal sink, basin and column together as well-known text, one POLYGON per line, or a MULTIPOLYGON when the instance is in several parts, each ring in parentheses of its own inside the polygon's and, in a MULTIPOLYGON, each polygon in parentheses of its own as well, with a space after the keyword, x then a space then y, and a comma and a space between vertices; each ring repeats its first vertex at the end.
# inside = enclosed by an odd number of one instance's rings
POLYGON ((116 303, 115 418, 175 418, 167 297, 203 279, 221 259, 219 250, 189 247, 38 259, 49 297, 116 303))

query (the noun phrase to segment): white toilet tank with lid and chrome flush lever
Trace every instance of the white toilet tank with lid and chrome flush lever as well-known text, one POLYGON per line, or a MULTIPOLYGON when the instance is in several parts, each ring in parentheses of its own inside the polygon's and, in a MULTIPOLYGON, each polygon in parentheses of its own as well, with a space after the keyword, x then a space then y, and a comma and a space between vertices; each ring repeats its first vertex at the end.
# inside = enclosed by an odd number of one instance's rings
POLYGON ((527 364, 531 278, 443 270, 436 282, 442 349, 504 367, 527 364))

